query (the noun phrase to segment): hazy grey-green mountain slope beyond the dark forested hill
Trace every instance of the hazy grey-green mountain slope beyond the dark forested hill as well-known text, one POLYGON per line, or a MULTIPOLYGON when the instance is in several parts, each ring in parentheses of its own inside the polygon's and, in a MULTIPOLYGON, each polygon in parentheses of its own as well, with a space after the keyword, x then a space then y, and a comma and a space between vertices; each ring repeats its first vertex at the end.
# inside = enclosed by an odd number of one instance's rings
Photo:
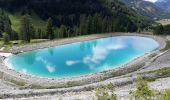
POLYGON ((170 18, 170 13, 165 10, 159 8, 155 4, 143 1, 143 0, 120 0, 124 2, 127 6, 138 12, 143 16, 147 16, 149 18, 170 18))

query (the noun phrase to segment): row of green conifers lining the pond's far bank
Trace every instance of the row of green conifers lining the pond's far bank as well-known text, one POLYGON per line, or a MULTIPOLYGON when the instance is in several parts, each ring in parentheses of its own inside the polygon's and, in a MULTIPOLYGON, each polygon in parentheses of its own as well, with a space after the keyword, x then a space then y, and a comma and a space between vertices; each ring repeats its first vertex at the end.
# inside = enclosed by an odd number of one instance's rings
MULTIPOLYGON (((3 12, 3 11, 2 11, 3 12)), ((134 32, 138 27, 125 17, 124 20, 114 19, 114 16, 104 17, 101 14, 96 13, 94 16, 81 15, 78 26, 70 27, 61 25, 59 27, 54 25, 53 19, 50 17, 46 22, 46 28, 36 29, 32 23, 29 14, 22 16, 20 20, 20 32, 17 33, 11 28, 11 21, 7 14, 3 12, 2 25, 0 27, 1 33, 3 33, 4 42, 8 43, 10 40, 23 40, 24 42, 30 42, 31 39, 55 39, 66 38, 79 35, 88 35, 93 33, 105 33, 105 32, 134 32), (5 20, 4 20, 5 19, 5 20)), ((124 17, 124 16, 122 16, 124 17)))

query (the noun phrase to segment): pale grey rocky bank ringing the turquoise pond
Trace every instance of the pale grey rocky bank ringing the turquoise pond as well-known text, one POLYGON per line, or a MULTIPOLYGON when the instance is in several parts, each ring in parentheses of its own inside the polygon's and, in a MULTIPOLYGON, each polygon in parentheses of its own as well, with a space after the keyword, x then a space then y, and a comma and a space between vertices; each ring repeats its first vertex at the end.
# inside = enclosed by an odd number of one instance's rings
MULTIPOLYGON (((134 59, 133 61, 129 62, 128 64, 122 65, 119 68, 96 73, 92 75, 86 75, 81 77, 75 77, 75 78, 62 78, 62 79, 48 79, 48 78, 38 78, 33 77, 29 75, 25 75, 22 73, 18 73, 14 70, 8 69, 5 64, 3 63, 3 59, 0 59, 0 72, 3 74, 2 79, 4 80, 17 80, 19 82, 24 82, 25 85, 23 88, 29 88, 31 85, 37 85, 41 86, 42 89, 34 90, 34 89, 23 89, 23 90, 6 90, 1 91, 0 90, 0 97, 2 98, 15 98, 15 97, 31 97, 31 96, 41 96, 41 95, 52 95, 52 94, 62 94, 67 92, 81 92, 81 91, 91 91, 97 88, 100 85, 105 85, 108 83, 112 83, 114 86, 124 86, 127 84, 133 84, 137 78, 136 71, 139 69, 146 69, 149 68, 148 66, 152 61, 153 57, 152 54, 156 55, 163 55, 166 52, 161 52, 160 50, 165 48, 166 41, 164 38, 159 36, 153 36, 153 35, 144 35, 144 34, 135 34, 135 33, 123 33, 123 34, 100 34, 100 35, 92 35, 92 36, 85 36, 84 37, 78 37, 78 38, 72 38, 72 39, 64 39, 59 41, 52 41, 52 42, 46 42, 46 43, 39 43, 34 45, 27 45, 22 47, 15 47, 11 50, 11 53, 17 54, 19 52, 26 52, 30 50, 36 50, 41 48, 47 48, 67 43, 73 43, 73 42, 80 42, 80 41, 87 41, 91 39, 97 39, 97 38, 103 38, 103 37, 109 37, 109 36, 122 36, 122 35, 135 35, 135 36, 144 36, 149 37, 154 40, 156 40, 160 44, 159 50, 150 52, 145 54, 142 57, 138 57, 134 59), (125 72, 125 70, 127 72, 125 72), (123 72, 124 71, 124 72, 123 72), (121 72, 121 74, 119 74, 121 72), (123 72, 123 73, 122 73, 123 72), (118 73, 113 75, 113 73, 118 73), (60 88, 60 89, 44 89, 44 88, 60 88)), ((0 57, 1 58, 1 57, 0 57)), ((144 70, 142 69, 142 70, 144 70)), ((150 69, 152 70, 152 69, 150 69)), ((148 70, 147 70, 148 71, 148 70)))

